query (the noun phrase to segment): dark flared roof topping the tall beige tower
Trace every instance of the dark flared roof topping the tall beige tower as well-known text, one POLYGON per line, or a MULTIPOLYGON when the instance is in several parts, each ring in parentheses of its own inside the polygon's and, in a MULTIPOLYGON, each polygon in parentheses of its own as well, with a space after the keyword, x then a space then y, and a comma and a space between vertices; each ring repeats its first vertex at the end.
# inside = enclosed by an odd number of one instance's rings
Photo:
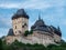
POLYGON ((20 17, 28 18, 29 19, 29 16, 24 11, 24 9, 19 9, 16 11, 16 13, 13 14, 12 19, 16 19, 16 18, 20 18, 20 17))

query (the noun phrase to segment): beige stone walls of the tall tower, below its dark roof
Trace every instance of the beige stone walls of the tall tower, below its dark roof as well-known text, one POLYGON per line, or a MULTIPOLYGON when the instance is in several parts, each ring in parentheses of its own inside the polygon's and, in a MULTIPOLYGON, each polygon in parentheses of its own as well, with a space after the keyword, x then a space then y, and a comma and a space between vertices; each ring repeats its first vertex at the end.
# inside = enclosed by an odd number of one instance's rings
POLYGON ((12 20, 12 27, 15 36, 23 34, 29 29, 29 20, 26 18, 14 19, 12 20), (25 27, 24 23, 26 23, 25 27))

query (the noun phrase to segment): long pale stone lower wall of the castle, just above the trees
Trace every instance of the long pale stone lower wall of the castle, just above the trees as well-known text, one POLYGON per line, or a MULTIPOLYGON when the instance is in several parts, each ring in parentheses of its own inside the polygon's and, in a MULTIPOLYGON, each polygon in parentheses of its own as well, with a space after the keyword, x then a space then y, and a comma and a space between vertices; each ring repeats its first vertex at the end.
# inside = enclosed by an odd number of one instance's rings
MULTIPOLYGON (((14 40, 18 40, 20 42, 31 43, 31 44, 34 44, 34 43, 40 43, 40 44, 44 44, 44 46, 47 46, 50 43, 55 44, 54 38, 51 37, 50 34, 46 34, 47 32, 44 32, 44 33, 37 33, 37 32, 38 31, 34 31, 33 34, 29 34, 28 37, 23 37, 23 36, 7 37, 7 42, 12 43, 14 40)), ((58 37, 56 37, 56 38, 58 40, 61 39, 58 37)))

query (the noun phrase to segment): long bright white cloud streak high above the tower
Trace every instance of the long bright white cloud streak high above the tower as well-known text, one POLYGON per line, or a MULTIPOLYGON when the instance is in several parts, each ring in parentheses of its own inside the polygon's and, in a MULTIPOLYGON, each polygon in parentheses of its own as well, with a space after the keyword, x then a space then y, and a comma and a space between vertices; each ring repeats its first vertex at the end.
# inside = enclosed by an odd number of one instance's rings
POLYGON ((25 8, 25 9, 44 9, 51 7, 50 3, 46 1, 42 0, 28 0, 24 2, 6 2, 6 3, 0 3, 0 8, 25 8))

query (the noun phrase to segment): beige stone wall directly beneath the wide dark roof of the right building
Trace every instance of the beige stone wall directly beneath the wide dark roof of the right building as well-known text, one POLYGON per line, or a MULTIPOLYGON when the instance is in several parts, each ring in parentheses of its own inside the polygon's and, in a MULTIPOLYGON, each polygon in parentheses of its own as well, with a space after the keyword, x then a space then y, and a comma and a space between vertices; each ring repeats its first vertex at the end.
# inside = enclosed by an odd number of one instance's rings
POLYGON ((43 44, 50 44, 50 43, 54 43, 54 39, 52 36, 48 34, 48 32, 41 32, 40 31, 34 31, 34 37, 38 39, 40 43, 43 44))

